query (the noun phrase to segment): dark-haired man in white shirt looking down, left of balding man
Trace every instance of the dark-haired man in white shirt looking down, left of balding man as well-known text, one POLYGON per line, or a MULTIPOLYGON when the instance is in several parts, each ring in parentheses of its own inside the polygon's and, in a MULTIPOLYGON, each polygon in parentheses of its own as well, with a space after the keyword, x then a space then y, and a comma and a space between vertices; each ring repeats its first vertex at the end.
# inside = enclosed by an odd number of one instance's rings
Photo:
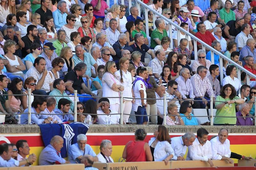
POLYGON ((188 146, 187 160, 201 160, 208 162, 211 167, 212 163, 212 144, 208 141, 209 132, 204 128, 199 128, 196 132, 197 138, 193 145, 188 146))

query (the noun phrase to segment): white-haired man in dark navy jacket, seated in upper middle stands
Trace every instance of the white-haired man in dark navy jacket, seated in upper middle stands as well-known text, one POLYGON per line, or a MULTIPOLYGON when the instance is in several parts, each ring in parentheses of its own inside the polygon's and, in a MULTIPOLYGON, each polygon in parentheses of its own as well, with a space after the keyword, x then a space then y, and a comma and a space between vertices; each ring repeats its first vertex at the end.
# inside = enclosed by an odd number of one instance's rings
POLYGON ((129 46, 127 42, 127 36, 125 33, 121 33, 118 36, 118 41, 116 41, 113 44, 113 48, 116 51, 116 56, 113 56, 114 61, 119 61, 120 58, 122 57, 122 51, 128 50, 130 53, 132 53, 133 49, 132 47, 129 46))

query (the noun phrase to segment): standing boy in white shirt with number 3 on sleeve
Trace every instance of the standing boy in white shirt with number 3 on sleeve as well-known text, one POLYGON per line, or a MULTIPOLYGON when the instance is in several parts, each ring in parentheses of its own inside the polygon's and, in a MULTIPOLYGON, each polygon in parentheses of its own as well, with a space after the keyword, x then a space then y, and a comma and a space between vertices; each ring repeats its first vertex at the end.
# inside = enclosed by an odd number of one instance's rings
POLYGON ((135 98, 135 102, 132 103, 132 110, 134 110, 136 115, 137 124, 147 124, 148 115, 146 112, 147 107, 147 94, 146 88, 148 88, 148 83, 145 82, 145 78, 147 77, 147 69, 146 67, 138 67, 137 76, 133 82, 133 92, 135 98), (144 100, 145 99, 145 100, 144 100), (137 115, 145 115, 145 116, 137 116, 137 115))

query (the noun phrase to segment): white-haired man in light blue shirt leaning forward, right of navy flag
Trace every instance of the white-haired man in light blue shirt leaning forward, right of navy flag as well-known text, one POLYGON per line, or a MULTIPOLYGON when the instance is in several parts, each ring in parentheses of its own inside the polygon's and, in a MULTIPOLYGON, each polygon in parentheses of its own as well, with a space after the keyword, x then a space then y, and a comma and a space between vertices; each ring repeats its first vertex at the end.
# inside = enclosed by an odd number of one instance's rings
POLYGON ((81 159, 85 154, 93 156, 93 161, 98 161, 96 153, 89 144, 86 144, 87 137, 84 134, 77 135, 77 143, 72 144, 68 150, 68 160, 70 163, 81 163, 81 159))

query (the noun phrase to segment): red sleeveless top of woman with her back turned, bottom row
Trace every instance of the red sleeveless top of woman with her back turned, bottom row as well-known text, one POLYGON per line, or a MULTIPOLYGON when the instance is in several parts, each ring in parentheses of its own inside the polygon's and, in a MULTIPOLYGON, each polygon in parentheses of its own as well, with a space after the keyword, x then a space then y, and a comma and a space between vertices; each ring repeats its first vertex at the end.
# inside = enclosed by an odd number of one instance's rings
POLYGON ((126 146, 126 162, 146 162, 144 141, 130 141, 126 146))

